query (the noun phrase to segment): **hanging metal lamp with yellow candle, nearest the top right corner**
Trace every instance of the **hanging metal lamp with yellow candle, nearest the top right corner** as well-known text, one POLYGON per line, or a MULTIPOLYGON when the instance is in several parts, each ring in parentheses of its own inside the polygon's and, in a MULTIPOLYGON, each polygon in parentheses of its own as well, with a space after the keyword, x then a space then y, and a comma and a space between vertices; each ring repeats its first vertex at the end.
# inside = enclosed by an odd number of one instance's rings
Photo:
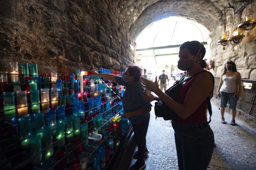
POLYGON ((247 15, 248 0, 244 0, 244 3, 246 3, 246 13, 245 13, 246 21, 240 23, 238 25, 238 28, 241 28, 241 29, 245 30, 246 32, 249 32, 256 25, 256 19, 253 19, 253 8, 252 8, 252 6, 254 6, 254 8, 255 8, 254 2, 252 2, 252 0, 251 0, 251 13, 249 12, 249 14, 247 15))

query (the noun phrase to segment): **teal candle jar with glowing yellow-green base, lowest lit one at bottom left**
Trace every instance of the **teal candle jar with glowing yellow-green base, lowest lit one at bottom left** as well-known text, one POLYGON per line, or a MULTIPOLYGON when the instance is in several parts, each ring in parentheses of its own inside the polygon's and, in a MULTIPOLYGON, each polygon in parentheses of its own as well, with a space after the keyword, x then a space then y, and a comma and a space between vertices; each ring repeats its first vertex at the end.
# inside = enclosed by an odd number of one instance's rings
POLYGON ((42 127, 42 131, 43 131, 43 146, 48 147, 44 150, 44 159, 47 159, 54 154, 53 145, 52 145, 52 126, 45 125, 42 127))

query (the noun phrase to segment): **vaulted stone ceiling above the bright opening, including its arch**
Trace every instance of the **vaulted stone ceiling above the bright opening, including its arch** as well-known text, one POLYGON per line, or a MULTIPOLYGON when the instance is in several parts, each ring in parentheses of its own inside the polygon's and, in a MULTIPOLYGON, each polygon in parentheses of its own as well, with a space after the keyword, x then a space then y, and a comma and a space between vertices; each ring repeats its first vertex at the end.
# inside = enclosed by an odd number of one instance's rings
POLYGON ((213 31, 220 25, 222 9, 232 0, 113 0, 130 30, 137 35, 150 23, 169 16, 194 20, 213 31))

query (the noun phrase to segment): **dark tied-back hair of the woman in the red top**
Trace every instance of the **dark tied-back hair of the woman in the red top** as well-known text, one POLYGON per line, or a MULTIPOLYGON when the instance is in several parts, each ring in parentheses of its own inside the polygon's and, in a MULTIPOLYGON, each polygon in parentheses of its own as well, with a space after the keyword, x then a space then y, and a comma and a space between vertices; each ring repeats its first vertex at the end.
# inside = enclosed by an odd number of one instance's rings
POLYGON ((200 49, 199 53, 202 53, 202 57, 200 59, 200 66, 201 68, 206 68, 206 62, 205 60, 203 60, 203 58, 205 57, 205 47, 203 44, 201 44, 199 41, 187 41, 185 43, 183 43, 182 45, 180 45, 179 49, 183 49, 183 48, 187 48, 189 50, 189 52, 191 54, 193 54, 194 56, 197 55, 198 50, 200 49), (201 49, 200 49, 201 47, 201 49))

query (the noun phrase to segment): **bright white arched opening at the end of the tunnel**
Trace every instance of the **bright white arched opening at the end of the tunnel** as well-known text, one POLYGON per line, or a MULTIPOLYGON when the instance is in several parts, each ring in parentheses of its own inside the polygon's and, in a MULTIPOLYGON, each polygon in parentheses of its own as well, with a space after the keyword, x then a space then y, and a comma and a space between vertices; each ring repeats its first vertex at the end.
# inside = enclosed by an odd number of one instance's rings
POLYGON ((177 63, 179 60, 179 46, 186 41, 199 41, 205 45, 206 55, 210 57, 209 31, 201 24, 181 17, 169 17, 148 25, 136 39, 136 60, 143 69, 143 75, 150 71, 160 75, 162 70, 171 79, 171 73, 179 73, 177 63))

